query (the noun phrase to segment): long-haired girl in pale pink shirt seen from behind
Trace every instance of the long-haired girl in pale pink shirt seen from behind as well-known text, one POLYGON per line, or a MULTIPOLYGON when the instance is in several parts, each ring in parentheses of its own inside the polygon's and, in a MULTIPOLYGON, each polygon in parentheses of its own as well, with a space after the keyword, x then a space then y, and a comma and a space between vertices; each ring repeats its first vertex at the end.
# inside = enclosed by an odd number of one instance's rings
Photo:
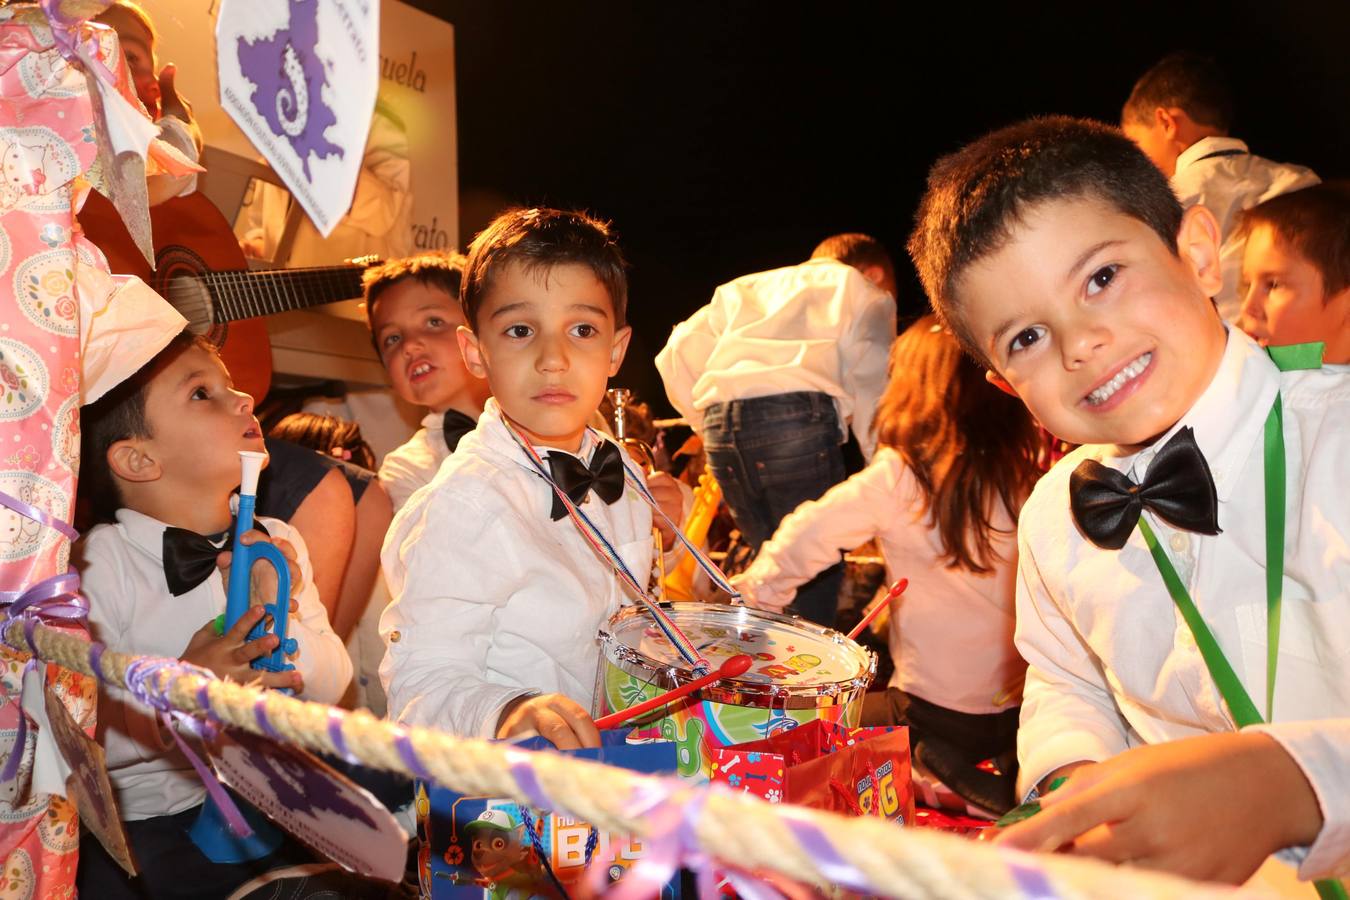
MULTIPOLYGON (((1011 777, 973 769, 1011 757, 1017 739, 1026 663, 1013 646, 1015 521, 1040 475, 1040 432, 933 316, 896 339, 873 426, 871 464, 790 513, 733 583, 752 606, 782 610, 841 549, 875 537, 887 580, 910 586, 890 615, 895 675, 868 695, 863 723, 909 725, 921 761, 971 769, 963 783, 994 791, 965 799, 1006 812, 1011 777)), ((949 787, 961 793, 963 783, 949 787)))

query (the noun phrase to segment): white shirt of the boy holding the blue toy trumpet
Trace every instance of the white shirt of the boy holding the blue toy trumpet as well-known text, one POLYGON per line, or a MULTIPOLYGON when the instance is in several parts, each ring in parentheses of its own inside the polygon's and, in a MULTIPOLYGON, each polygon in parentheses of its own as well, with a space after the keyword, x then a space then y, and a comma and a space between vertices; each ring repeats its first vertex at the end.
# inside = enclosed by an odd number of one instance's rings
MULTIPOLYGON (((335 703, 351 681, 351 660, 319 602, 309 553, 300 532, 281 519, 259 517, 274 538, 296 548, 304 587, 298 613, 288 622, 298 653, 290 661, 305 679, 300 695, 335 703)), ((96 641, 119 653, 178 657, 201 626, 225 611, 225 586, 213 571, 193 590, 174 596, 163 572, 165 524, 130 509, 116 525, 99 525, 76 545, 80 588, 89 598, 96 641)), ((155 714, 109 687, 99 698, 99 737, 108 775, 127 820, 181 812, 201 803, 205 791, 196 770, 165 733, 155 714)))

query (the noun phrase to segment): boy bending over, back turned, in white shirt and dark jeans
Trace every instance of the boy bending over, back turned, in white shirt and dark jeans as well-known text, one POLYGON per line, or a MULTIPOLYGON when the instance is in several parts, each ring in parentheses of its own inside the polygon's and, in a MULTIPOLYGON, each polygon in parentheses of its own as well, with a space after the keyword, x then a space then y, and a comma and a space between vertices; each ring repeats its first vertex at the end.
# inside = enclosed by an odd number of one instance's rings
MULTIPOLYGON (((824 240, 799 266, 744 275, 671 332, 656 356, 666 395, 702 439, 752 549, 865 460, 895 340, 895 269, 867 235, 824 240)), ((791 611, 832 626, 844 567, 802 586, 791 611)))

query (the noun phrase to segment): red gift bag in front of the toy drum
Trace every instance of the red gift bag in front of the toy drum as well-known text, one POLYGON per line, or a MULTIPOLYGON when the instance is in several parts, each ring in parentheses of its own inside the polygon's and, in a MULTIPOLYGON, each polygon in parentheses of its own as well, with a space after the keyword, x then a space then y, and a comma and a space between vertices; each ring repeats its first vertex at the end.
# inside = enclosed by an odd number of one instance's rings
POLYGON ((907 727, 850 729, 817 719, 710 753, 713 781, 771 803, 914 823, 907 727))

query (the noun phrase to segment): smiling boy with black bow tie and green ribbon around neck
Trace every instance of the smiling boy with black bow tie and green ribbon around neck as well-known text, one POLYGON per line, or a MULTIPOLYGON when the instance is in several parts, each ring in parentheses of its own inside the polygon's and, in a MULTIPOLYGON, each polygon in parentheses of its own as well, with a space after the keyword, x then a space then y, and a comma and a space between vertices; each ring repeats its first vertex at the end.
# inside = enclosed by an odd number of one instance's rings
POLYGON ((1011 125, 930 173, 929 297, 1084 444, 1018 524, 1021 785, 1069 777, 1002 839, 1230 881, 1299 847, 1303 877, 1345 876, 1350 379, 1224 327, 1219 246, 1096 123, 1011 125))

